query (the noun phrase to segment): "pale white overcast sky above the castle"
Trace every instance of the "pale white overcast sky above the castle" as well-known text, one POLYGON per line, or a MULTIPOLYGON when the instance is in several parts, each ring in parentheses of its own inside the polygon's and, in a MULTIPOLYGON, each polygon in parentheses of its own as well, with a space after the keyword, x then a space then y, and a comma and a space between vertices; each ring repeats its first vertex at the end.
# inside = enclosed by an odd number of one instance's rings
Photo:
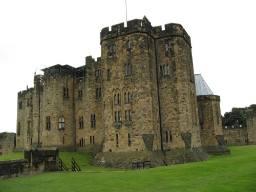
MULTIPOLYGON (((144 15, 184 27, 195 74, 221 96, 222 114, 256 103, 256 1, 127 0, 127 20, 144 15)), ((17 92, 33 87, 34 71, 96 59, 101 29, 122 22, 125 0, 0 0, 0 132, 16 132, 17 92)))

